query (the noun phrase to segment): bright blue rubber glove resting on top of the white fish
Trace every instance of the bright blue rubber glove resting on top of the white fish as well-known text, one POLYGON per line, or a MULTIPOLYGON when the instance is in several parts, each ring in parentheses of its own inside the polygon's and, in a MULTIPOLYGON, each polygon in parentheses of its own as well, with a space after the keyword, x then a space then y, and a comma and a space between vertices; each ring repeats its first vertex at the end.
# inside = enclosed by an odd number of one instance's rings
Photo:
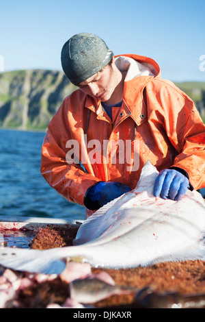
POLYGON ((174 169, 165 169, 159 173, 154 182, 154 197, 180 200, 189 188, 189 179, 174 169))

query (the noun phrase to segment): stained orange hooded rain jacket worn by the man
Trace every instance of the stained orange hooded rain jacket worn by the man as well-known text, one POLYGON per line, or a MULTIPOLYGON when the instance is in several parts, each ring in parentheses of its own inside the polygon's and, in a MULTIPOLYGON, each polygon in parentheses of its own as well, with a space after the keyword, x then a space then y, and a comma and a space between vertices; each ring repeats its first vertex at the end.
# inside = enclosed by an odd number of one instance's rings
POLYGON ((44 138, 43 177, 81 205, 86 190, 98 181, 135 188, 147 160, 159 171, 179 167, 194 189, 203 188, 205 125, 193 101, 161 79, 159 65, 150 58, 120 55, 115 64, 126 70, 122 107, 113 108, 111 121, 100 101, 81 90, 66 97, 44 138))

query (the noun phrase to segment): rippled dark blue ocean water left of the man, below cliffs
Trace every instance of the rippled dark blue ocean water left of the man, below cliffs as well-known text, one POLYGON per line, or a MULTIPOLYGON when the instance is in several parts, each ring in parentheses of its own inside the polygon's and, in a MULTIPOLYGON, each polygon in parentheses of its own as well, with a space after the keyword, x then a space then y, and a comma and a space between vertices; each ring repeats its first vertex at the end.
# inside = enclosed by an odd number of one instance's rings
POLYGON ((0 217, 85 219, 85 208, 59 195, 40 174, 44 136, 0 129, 0 217))

